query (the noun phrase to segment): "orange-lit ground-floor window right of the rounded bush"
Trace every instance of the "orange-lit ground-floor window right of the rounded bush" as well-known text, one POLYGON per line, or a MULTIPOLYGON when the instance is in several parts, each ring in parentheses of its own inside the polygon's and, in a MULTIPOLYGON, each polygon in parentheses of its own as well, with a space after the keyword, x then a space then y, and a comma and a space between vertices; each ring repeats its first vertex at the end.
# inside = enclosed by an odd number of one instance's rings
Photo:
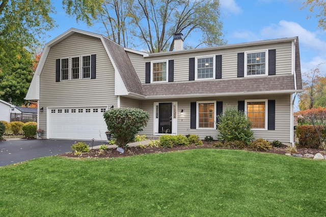
POLYGON ((245 101, 245 112, 252 122, 252 128, 267 130, 267 100, 245 101))

